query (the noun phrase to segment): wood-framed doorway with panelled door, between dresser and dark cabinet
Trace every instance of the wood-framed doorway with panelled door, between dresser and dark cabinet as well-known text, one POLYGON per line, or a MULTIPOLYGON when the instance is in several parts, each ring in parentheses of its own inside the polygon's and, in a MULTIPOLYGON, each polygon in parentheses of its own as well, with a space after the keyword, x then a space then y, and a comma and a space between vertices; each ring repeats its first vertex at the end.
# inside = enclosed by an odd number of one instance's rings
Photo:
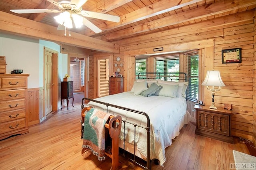
POLYGON ((58 51, 44 47, 44 117, 58 110, 58 51))

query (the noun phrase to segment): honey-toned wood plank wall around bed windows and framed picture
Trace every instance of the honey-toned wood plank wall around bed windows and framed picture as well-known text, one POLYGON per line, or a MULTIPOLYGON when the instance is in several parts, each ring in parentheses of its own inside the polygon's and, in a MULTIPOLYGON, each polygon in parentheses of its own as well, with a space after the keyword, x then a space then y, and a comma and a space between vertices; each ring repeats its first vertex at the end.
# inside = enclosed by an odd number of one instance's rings
MULTIPOLYGON (((254 10, 216 16, 212 20, 202 21, 198 24, 191 23, 188 26, 168 31, 159 31, 150 35, 114 42, 120 44, 118 56, 124 60, 124 67, 121 68, 121 72, 124 72, 125 75, 125 90, 129 90, 134 82, 134 55, 154 53, 153 48, 157 47, 164 47, 163 52, 167 52, 167 50, 172 51, 173 48, 184 49, 188 46, 187 44, 194 43, 196 48, 198 45, 205 45, 197 42, 213 40, 213 47, 202 49, 200 77, 204 77, 206 71, 213 68, 220 71, 226 87, 216 93, 216 106, 221 107, 223 103, 232 104, 234 111, 232 135, 252 140, 253 120, 256 117, 253 115, 253 111, 255 111, 255 105, 253 105, 253 101, 255 101, 255 99, 253 100, 253 79, 255 79, 255 73, 253 74, 255 67, 254 16, 254 10), (222 49, 238 47, 242 48, 242 63, 222 64, 222 49), (137 51, 137 53, 131 54, 131 51, 137 51)), ((209 102, 210 93, 205 88, 202 88, 201 93, 205 103, 209 102)))

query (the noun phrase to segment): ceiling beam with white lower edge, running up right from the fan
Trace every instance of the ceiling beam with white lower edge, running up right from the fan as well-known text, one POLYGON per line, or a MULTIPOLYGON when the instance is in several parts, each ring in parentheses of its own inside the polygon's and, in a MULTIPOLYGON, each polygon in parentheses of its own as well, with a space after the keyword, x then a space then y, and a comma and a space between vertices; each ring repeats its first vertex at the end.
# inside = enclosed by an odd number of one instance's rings
MULTIPOLYGON (((184 6, 195 4, 200 1, 202 0, 164 0, 165 5, 163 5, 163 1, 159 1, 149 6, 145 6, 144 8, 140 8, 136 11, 130 12, 129 14, 120 16, 119 23, 104 22, 103 24, 99 24, 97 26, 101 30, 112 30, 159 14, 164 14, 165 12, 176 10, 184 6)), ((86 36, 92 36, 95 33, 87 29, 84 31, 83 34, 86 36)))

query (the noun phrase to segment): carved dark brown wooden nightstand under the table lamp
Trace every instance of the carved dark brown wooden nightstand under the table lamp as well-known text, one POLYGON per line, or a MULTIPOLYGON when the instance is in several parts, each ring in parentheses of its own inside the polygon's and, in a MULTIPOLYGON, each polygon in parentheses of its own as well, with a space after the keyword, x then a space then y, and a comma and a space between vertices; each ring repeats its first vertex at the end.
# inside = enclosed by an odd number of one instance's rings
POLYGON ((234 143, 231 136, 232 110, 210 109, 210 106, 196 105, 196 134, 214 138, 228 143, 234 143))

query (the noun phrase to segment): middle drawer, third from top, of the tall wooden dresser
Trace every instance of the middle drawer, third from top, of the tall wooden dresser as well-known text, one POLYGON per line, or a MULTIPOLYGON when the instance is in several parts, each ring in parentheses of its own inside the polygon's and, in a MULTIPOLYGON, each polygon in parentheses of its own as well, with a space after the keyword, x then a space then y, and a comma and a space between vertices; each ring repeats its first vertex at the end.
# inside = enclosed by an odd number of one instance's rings
POLYGON ((0 112, 12 111, 16 109, 25 108, 25 99, 11 100, 11 101, 1 101, 0 102, 0 112))

